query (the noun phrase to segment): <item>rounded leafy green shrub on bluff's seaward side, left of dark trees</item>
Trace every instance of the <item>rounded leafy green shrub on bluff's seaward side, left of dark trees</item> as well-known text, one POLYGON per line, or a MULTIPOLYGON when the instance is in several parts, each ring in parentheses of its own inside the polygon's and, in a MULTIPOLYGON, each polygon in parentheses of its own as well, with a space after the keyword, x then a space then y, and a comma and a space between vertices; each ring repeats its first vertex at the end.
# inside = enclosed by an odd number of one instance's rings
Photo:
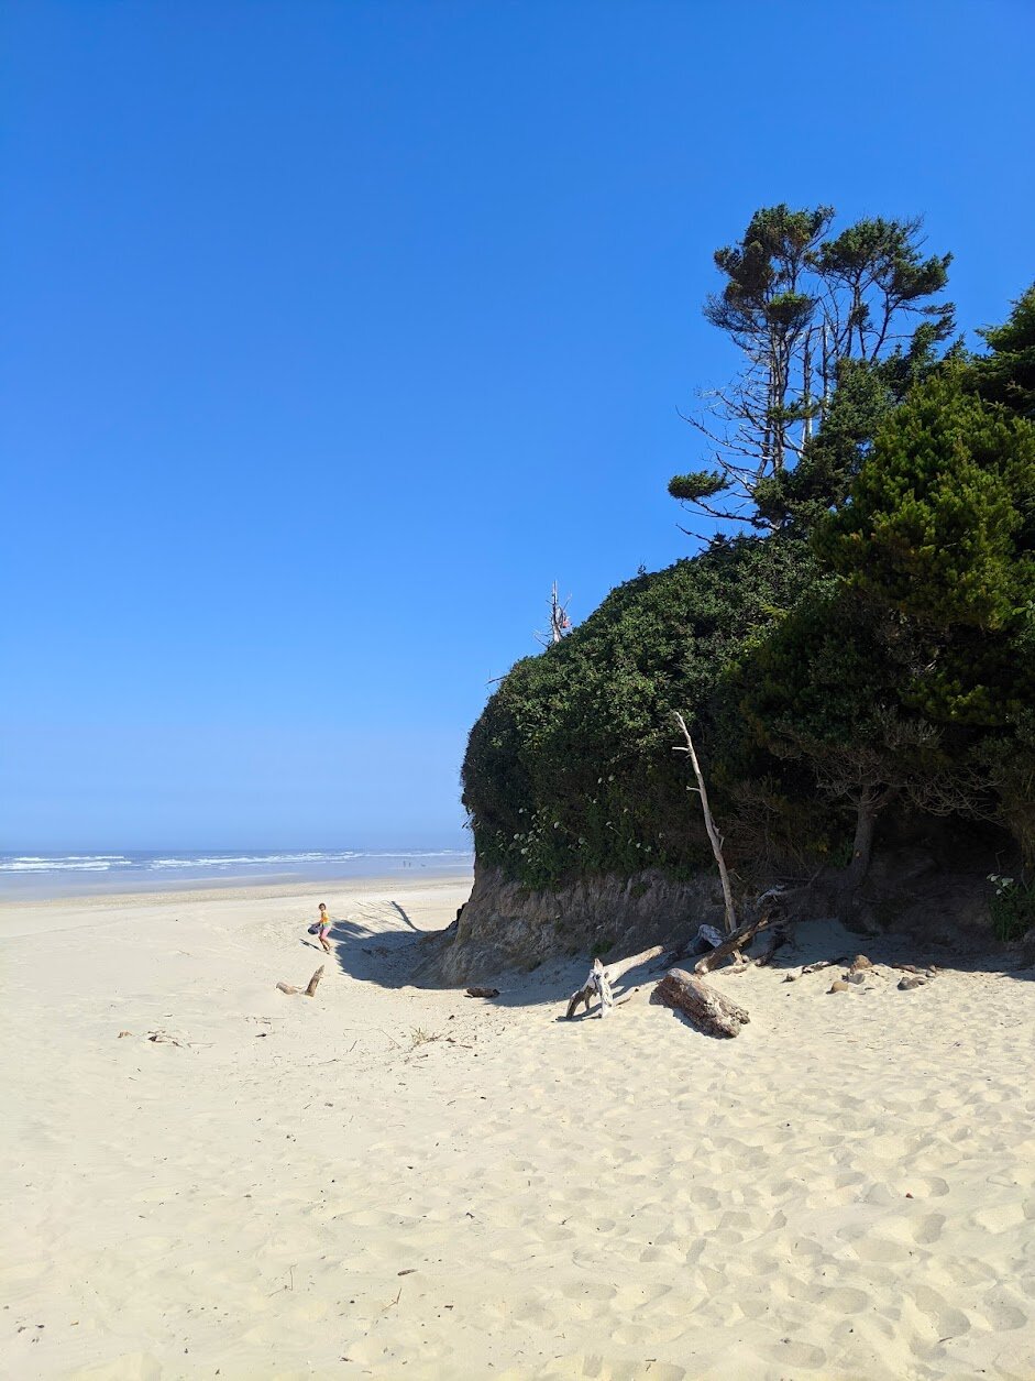
POLYGON ((708 866, 672 711, 697 725, 718 769, 722 673, 784 617, 811 570, 807 545, 789 537, 716 541, 620 586, 563 642, 519 661, 464 761, 477 856, 529 887, 708 866))

